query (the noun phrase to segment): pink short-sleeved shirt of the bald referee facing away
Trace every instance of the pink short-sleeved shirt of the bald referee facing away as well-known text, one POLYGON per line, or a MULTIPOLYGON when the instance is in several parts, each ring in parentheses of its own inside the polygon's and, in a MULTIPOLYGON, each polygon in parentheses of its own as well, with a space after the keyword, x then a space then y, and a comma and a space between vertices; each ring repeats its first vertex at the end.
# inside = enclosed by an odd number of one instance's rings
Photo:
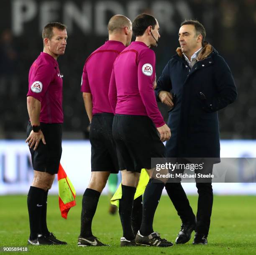
POLYGON ((108 89, 115 58, 125 46, 119 41, 106 41, 85 61, 81 92, 92 94, 92 114, 113 110, 108 100, 108 89))

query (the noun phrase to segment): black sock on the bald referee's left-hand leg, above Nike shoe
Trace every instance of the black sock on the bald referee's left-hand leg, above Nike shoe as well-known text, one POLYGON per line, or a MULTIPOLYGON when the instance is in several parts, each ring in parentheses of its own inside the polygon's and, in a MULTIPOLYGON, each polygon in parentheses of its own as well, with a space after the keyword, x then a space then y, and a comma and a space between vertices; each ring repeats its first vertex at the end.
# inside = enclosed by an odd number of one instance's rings
POLYGON ((82 199, 81 232, 80 237, 92 236, 92 219, 96 212, 100 192, 86 189, 82 199))

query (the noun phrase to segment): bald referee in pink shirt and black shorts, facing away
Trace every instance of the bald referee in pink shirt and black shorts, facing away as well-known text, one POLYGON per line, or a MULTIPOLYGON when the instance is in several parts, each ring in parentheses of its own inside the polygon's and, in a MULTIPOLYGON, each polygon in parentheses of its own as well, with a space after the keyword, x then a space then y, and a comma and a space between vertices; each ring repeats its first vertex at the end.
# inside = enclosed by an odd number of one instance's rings
MULTIPOLYGON (((131 43, 131 20, 123 15, 113 16, 108 23, 109 40, 87 58, 82 74, 84 105, 89 117, 90 143, 92 145, 92 175, 82 199, 81 232, 77 245, 105 246, 92 235, 92 219, 97 203, 110 173, 118 173, 118 158, 112 137, 113 110, 108 99, 108 89, 115 58, 131 43)), ((136 199, 138 212, 142 211, 141 201, 136 199)), ((135 216, 139 213, 135 213, 135 216)), ((136 221, 135 221, 136 222, 136 221)), ((138 231, 141 222, 133 226, 138 231)), ((121 240, 121 246, 130 242, 121 240)))

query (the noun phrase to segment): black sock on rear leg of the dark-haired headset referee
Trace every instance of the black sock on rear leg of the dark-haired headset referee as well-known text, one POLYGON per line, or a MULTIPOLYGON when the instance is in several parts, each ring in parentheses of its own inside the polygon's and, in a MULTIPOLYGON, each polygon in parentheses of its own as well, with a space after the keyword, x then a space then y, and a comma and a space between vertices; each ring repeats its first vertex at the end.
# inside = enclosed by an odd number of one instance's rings
POLYGON ((123 227, 123 237, 131 241, 135 238, 131 225, 133 199, 136 188, 122 184, 122 198, 119 199, 119 215, 123 227))

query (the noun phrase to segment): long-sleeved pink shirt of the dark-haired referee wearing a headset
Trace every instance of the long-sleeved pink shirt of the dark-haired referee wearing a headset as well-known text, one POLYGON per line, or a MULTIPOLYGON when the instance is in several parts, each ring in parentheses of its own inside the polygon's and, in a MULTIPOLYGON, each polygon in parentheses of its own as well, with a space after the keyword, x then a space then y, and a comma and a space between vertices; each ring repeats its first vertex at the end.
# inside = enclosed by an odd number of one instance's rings
POLYGON ((156 56, 143 42, 132 42, 116 58, 108 92, 116 114, 146 115, 156 127, 165 124, 154 94, 156 56))

